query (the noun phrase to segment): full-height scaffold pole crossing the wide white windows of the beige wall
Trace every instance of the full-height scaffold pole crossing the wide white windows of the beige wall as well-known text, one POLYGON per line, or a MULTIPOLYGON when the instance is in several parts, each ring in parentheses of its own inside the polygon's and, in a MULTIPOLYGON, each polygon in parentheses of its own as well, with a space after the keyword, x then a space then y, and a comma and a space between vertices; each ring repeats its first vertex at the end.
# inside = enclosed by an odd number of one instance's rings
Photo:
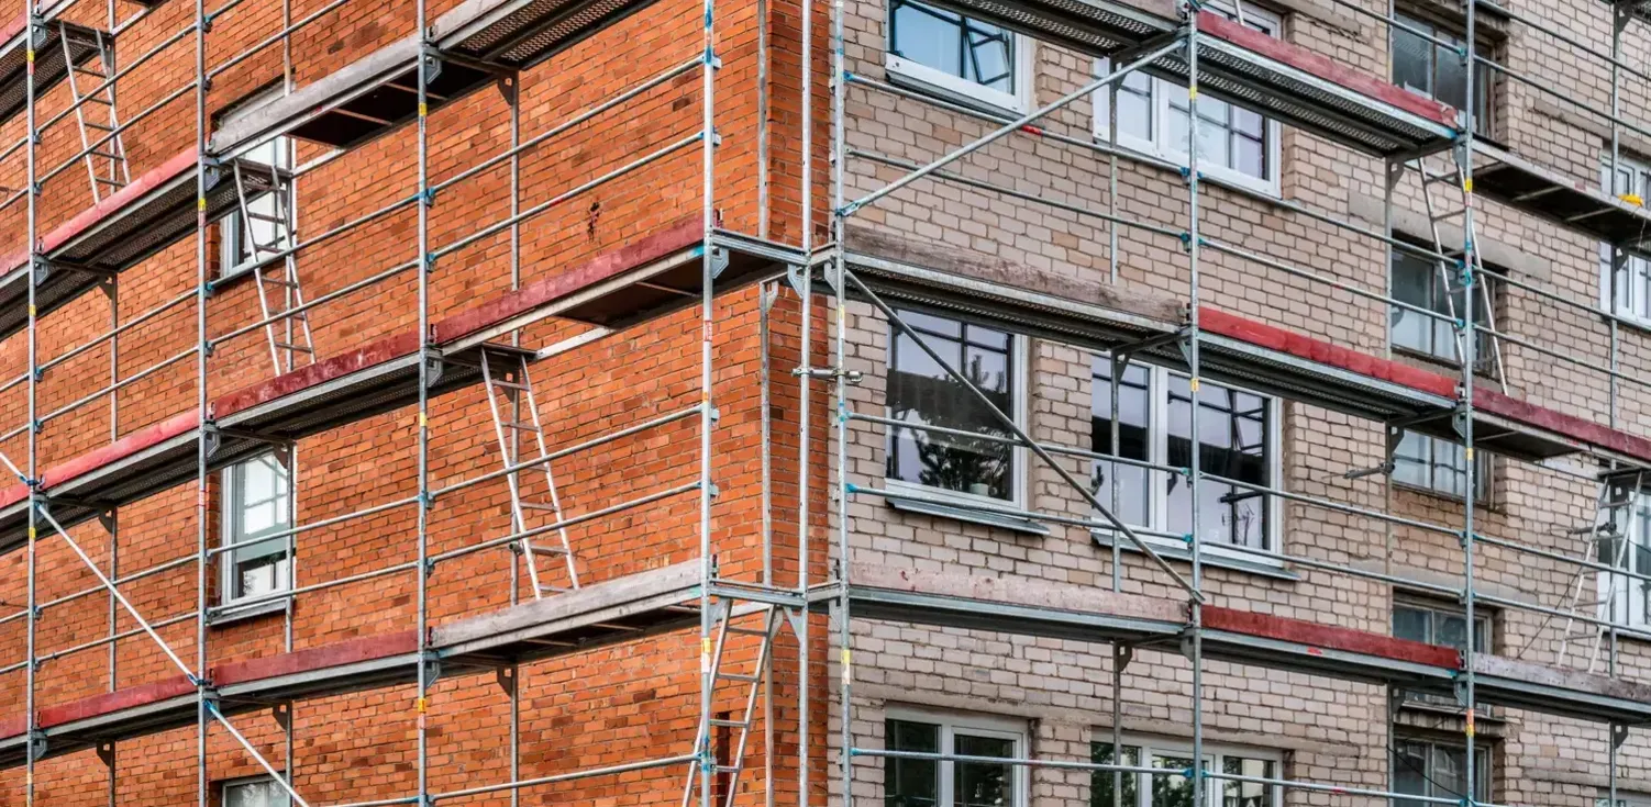
MULTIPOLYGON (((1199 484, 1204 474, 1199 462, 1199 3, 1187 2, 1187 399, 1190 406, 1187 439, 1192 442, 1187 467, 1187 495, 1192 498, 1187 543, 1192 550, 1192 597, 1189 621, 1192 625, 1192 804, 1205 804, 1209 779, 1204 771, 1204 536, 1199 517, 1199 484)), ((1113 419, 1118 414, 1113 413, 1113 419)))

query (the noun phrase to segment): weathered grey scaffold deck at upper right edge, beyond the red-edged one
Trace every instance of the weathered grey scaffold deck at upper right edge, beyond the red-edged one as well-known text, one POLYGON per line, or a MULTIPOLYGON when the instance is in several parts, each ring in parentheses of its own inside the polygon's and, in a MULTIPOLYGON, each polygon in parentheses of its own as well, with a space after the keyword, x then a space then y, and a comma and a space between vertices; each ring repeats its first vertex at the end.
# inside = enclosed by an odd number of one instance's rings
POLYGON ((1651 248, 1651 211, 1514 152, 1474 140, 1474 193, 1623 249, 1651 248))

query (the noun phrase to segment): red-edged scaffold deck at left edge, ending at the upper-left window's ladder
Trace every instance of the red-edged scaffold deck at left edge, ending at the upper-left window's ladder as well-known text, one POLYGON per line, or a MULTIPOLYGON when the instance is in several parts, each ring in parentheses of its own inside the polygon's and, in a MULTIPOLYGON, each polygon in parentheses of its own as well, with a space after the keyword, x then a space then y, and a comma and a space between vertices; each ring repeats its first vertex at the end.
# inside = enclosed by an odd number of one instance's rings
MULTIPOLYGON (((274 190, 272 177, 267 167, 249 165, 243 177, 248 201, 274 190)), ((205 185, 205 221, 218 221, 236 210, 239 191, 225 167, 208 163, 205 185)), ((195 231, 200 215, 192 149, 50 229, 40 238, 43 264, 35 271, 40 315, 177 244, 195 231)), ((0 259, 0 338, 28 325, 28 266, 26 248, 0 259)))

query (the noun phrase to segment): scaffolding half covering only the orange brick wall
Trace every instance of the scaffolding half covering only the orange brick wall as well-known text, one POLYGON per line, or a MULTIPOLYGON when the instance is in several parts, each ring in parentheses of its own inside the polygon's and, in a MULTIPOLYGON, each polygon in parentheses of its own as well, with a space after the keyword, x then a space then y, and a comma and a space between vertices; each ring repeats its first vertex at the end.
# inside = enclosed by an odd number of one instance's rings
MULTIPOLYGON (((584 779, 616 781, 634 772, 660 772, 670 776, 672 782, 684 782, 682 804, 708 805, 713 795, 721 797, 723 787, 731 804, 740 777, 751 767, 748 754, 755 754, 758 744, 763 753, 761 787, 773 794, 779 731, 773 708, 776 644, 781 635, 792 635, 802 647, 801 663, 806 668, 809 578, 806 571, 799 571, 794 586, 776 578, 769 520, 774 502, 766 465, 771 424, 766 409, 761 500, 764 530, 759 536, 745 536, 746 543, 761 545, 759 561, 738 568, 718 563, 720 548, 712 531, 713 503, 720 493, 713 480, 713 432, 720 418, 713 394, 718 370, 713 343, 721 332, 713 302, 718 295, 763 286, 763 394, 768 396, 768 312, 776 299, 771 281, 781 277, 788 266, 807 264, 812 244, 809 234, 802 234, 801 244, 766 238, 766 206, 759 234, 723 228, 717 188, 721 134, 717 130, 715 102, 717 76, 723 68, 717 25, 723 15, 713 0, 695 3, 698 43, 684 51, 682 61, 639 81, 627 76, 631 83, 622 89, 528 137, 522 132, 523 76, 583 40, 599 36, 606 28, 652 7, 652 0, 466 0, 439 15, 426 0, 416 0, 411 7, 413 26, 404 36, 302 86, 296 66, 302 53, 296 53, 296 41, 300 33, 340 13, 345 0, 332 0, 304 15, 296 15, 294 5, 284 0, 279 3, 277 30, 259 31, 251 46, 223 56, 221 48, 211 45, 213 30, 223 30, 225 21, 233 20, 243 3, 244 0, 228 0, 213 7, 196 0, 187 25, 158 36, 150 50, 124 63, 116 59, 116 43, 125 41, 129 31, 137 30, 165 0, 107 0, 107 23, 101 30, 83 25, 84 10, 71 13, 73 0, 50 7, 30 0, 23 3, 23 15, 0 33, 5 40, 0 46, 0 124, 21 117, 25 127, 23 135, 0 152, 0 163, 18 157, 25 163, 23 182, 5 191, 0 210, 23 203, 26 216, 26 244, 0 259, 0 338, 26 340, 26 366, 0 383, 0 393, 20 391, 26 398, 25 422, 0 434, 0 442, 21 441, 26 446, 21 457, 0 452, 0 464, 17 477, 17 484, 0 493, 0 508, 5 510, 0 515, 0 533, 5 535, 0 538, 0 555, 26 556, 26 602, 15 612, 0 616, 0 625, 21 624, 26 637, 26 655, 0 667, 0 675, 23 678, 25 715, 0 723, 0 767, 25 771, 20 802, 35 804, 40 762, 92 749, 107 766, 109 804, 119 804, 127 794, 116 776, 117 748, 132 739, 193 726, 195 794, 200 805, 215 804, 216 786, 208 766, 208 739, 215 733, 233 739, 238 753, 284 790, 291 804, 322 804, 315 794, 305 795, 294 779, 296 705, 309 698, 385 687, 413 687, 414 691, 406 710, 406 720, 416 726, 413 789, 380 792, 370 800, 353 802, 353 807, 433 804, 438 799, 490 794, 502 794, 510 804, 517 804, 523 789, 584 779), (122 18, 124 12, 129 15, 122 18), (117 114, 117 99, 130 97, 127 87, 145 74, 145 68, 154 68, 182 50, 193 51, 190 79, 183 86, 163 89, 152 106, 135 112, 119 109, 117 114), (218 111, 208 101, 213 81, 276 51, 281 64, 279 97, 246 114, 215 120, 218 111), (59 84, 69 87, 69 102, 64 109, 48 107, 43 96, 59 84), (530 186, 523 177, 527 155, 556 149, 558 139, 568 132, 670 86, 697 87, 697 124, 692 130, 650 144, 621 165, 560 188, 540 201, 523 201, 530 186), (433 116, 490 87, 499 91, 509 107, 509 149, 467 155, 467 165, 438 180, 431 155, 433 116), (134 170, 129 167, 129 153, 137 152, 129 150, 134 145, 134 127, 160 119, 162 111, 172 104, 190 104, 193 145, 152 168, 134 170), (61 155, 48 152, 48 134, 69 125, 74 127, 78 147, 59 158, 61 155), (365 215, 300 236, 300 180, 334 160, 348 158, 352 152, 360 153, 381 137, 398 130, 404 134, 408 129, 416 139, 411 155, 416 183, 411 191, 365 215), (302 140, 307 152, 294 145, 294 140, 302 140), (315 153, 315 158, 299 163, 300 153, 315 153), (693 215, 664 226, 644 226, 642 234, 621 248, 581 262, 565 261, 543 271, 523 267, 525 224, 596 188, 639 175, 670 158, 695 163, 693 175, 698 182, 693 215), (69 215, 61 224, 45 226, 48 211, 54 213, 68 205, 50 198, 48 190, 63 185, 53 180, 66 180, 71 177, 68 172, 76 168, 86 170, 89 186, 83 193, 91 205, 69 215), (489 178, 500 173, 507 177, 502 183, 509 191, 507 216, 475 216, 467 221, 464 233, 446 239, 433 233, 431 216, 439 196, 457 195, 466 185, 500 185, 489 178), (304 289, 299 272, 304 256, 335 246, 350 233, 409 215, 414 218, 408 239, 413 244, 406 246, 413 249, 406 254, 376 256, 370 261, 375 269, 371 274, 324 294, 304 289), (220 221, 238 228, 243 256, 239 266, 225 261, 215 271, 208 228, 220 221), (193 282, 158 305, 122 317, 122 282, 142 274, 145 261, 190 243, 192 236, 193 282), (467 299, 466 307, 439 314, 433 299, 434 277, 449 264, 467 272, 471 266, 461 259, 461 252, 489 239, 509 243, 509 290, 467 299), (236 276, 251 276, 258 309, 251 320, 243 317, 226 325, 226 314, 233 317, 234 312, 220 314, 215 302, 236 282, 229 269, 236 276), (329 304, 371 299, 391 282, 413 287, 416 310, 408 317, 413 320, 411 327, 345 350, 319 340, 320 332, 312 319, 329 304), (71 347, 46 355, 41 348, 43 322, 94 290, 109 299, 107 330, 91 338, 78 335, 71 347), (571 444, 546 437, 553 418, 546 418, 535 401, 530 366, 576 355, 584 345, 609 333, 642 327, 677 312, 692 314, 697 325, 697 373, 690 406, 571 444), (177 322, 178 317, 192 322, 192 347, 135 371, 124 366, 119 356, 124 337, 130 338, 144 327, 177 322), (530 327, 551 319, 583 330, 543 345, 523 343, 530 327), (269 363, 259 365, 269 370, 258 373, 253 383, 234 385, 229 391, 215 388, 213 381, 221 373, 215 368, 215 360, 259 337, 263 347, 251 350, 267 355, 269 363), (106 385, 86 394, 76 389, 68 403, 46 404, 43 391, 53 371, 101 353, 109 358, 106 385), (187 373, 195 393, 193 406, 139 429, 124 427, 119 409, 124 393, 145 380, 178 371, 187 373), (457 479, 439 480, 431 465, 433 432, 447 429, 466 434, 471 427, 462 416, 439 422, 441 416, 433 414, 433 401, 461 394, 474 396, 472 406, 485 403, 492 421, 490 439, 482 439, 477 446, 492 444, 499 464, 494 470, 479 465, 457 479), (107 406, 107 439, 94 441, 92 451, 63 462, 43 462, 43 429, 94 406, 107 406), (272 452, 274 462, 291 479, 299 441, 391 413, 413 424, 406 452, 416 465, 416 492, 368 505, 357 503, 345 513, 307 521, 299 520, 297 497, 287 495, 284 526, 259 536, 261 541, 279 543, 286 553, 279 591, 216 602, 215 569, 236 546, 228 540, 211 538, 208 520, 213 474, 272 452), (690 477, 677 484, 655 480, 646 493, 604 507, 563 507, 553 470, 558 462, 667 427, 685 427, 695 434, 697 447, 682 452, 692 459, 690 477), (434 548, 431 533, 438 502, 482 485, 504 485, 510 493, 510 518, 504 535, 467 540, 457 548, 434 548), (548 485, 548 492, 540 485, 548 485), (193 550, 139 569, 124 568, 119 563, 121 508, 180 488, 190 490, 193 500, 193 550), (545 492, 548 498, 533 498, 530 488, 545 492), (581 579, 580 553, 568 536, 571 528, 601 520, 627 520, 632 513, 660 503, 692 507, 697 512, 693 559, 611 579, 581 579), (393 512, 414 513, 409 558, 332 579, 300 581, 296 563, 300 536, 340 526, 365 528, 367 521, 393 512), (107 533, 106 564, 83 546, 84 538, 76 538, 74 530, 81 525, 99 525, 107 533), (43 597, 36 578, 43 573, 40 553, 46 541, 58 541, 69 550, 78 563, 76 571, 94 576, 96 586, 43 597), (509 566, 512 604, 462 619, 438 621, 429 602, 431 576, 439 564, 479 553, 509 553, 515 558, 509 566), (542 569, 542 556, 565 561, 563 573, 542 569), (149 612, 129 596, 137 584, 180 571, 193 571, 195 578, 195 606, 185 612, 149 612), (542 581, 542 574, 550 579, 542 581), (390 578, 413 581, 414 621, 406 630, 299 647, 292 609, 297 597, 390 578), (104 635, 69 647, 40 644, 40 624, 51 609, 97 596, 107 597, 104 635), (284 614, 282 652, 234 662, 215 660, 208 627, 216 619, 267 606, 277 606, 284 614), (124 629, 122 624, 135 627, 124 629), (187 649, 162 635, 173 625, 193 629, 193 658, 187 649), (700 652, 693 698, 697 733, 692 744, 657 753, 650 749, 646 759, 523 777, 522 665, 626 642, 680 642, 684 635, 697 637, 693 647, 700 652), (170 675, 122 685, 116 670, 117 645, 129 640, 150 642, 158 649, 170 675), (109 658, 107 691, 68 701, 41 701, 36 696, 38 672, 45 662, 99 649, 106 649, 109 658), (433 700, 431 690, 438 678, 475 675, 495 677, 509 698, 509 777, 438 789, 431 782, 428 721, 439 713, 441 705, 433 700), (713 713, 718 698, 738 701, 740 716, 713 713), (284 749, 279 753, 248 739, 238 728, 243 715, 266 710, 276 711, 282 729, 284 749), (725 729, 738 734, 731 754, 713 743, 713 734, 725 729), (682 779, 677 777, 679 772, 684 774, 682 779)), ((177 7, 178 2, 173 0, 172 5, 177 7)), ((768 20, 758 21, 761 36, 768 36, 766 26, 768 20)), ((804 31, 806 48, 812 48, 811 36, 804 31)), ((756 54, 761 81, 766 81, 768 59, 764 41, 756 54)), ((804 74, 812 73, 812 54, 804 50, 804 74)), ((801 153, 812 153, 812 134, 807 132, 812 127, 812 81, 801 84, 801 153)), ((763 86, 759 92, 766 101, 768 87, 763 86)), ((756 127, 756 140, 763 160, 759 172, 766 172, 766 119, 756 127)), ((799 191, 804 206, 812 205, 807 180, 799 191)), ((768 193, 766 173, 761 193, 768 193)), ((761 203, 768 205, 766 196, 761 203)), ((806 701, 804 688, 799 703, 806 701)), ((797 720, 806 748, 811 720, 806 706, 799 706, 797 720)))

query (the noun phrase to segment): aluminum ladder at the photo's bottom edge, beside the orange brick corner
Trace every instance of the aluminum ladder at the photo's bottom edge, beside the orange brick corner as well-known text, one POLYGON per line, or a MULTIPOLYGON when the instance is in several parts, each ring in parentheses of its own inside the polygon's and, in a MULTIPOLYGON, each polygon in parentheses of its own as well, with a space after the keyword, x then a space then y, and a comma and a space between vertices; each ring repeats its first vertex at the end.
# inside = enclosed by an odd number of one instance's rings
POLYGON ((738 718, 712 718, 708 724, 700 726, 700 731, 693 738, 697 759, 688 762, 688 776, 682 782, 682 807, 692 807, 698 790, 700 776, 705 774, 728 776, 728 792, 723 795, 723 807, 733 807, 735 797, 740 792, 740 774, 745 772, 745 749, 750 746, 751 729, 756 723, 756 705, 759 695, 763 693, 764 673, 773 660, 774 639, 779 634, 779 627, 784 624, 784 617, 778 606, 759 606, 745 612, 735 612, 733 601, 730 599, 720 599, 712 604, 712 621, 717 639, 707 639, 707 642, 715 642, 708 654, 702 650, 702 657, 708 657, 702 663, 708 663, 712 673, 712 688, 705 693, 705 698, 715 703, 718 685, 743 685, 746 688, 745 706, 741 708, 738 718), (735 624, 756 622, 756 617, 759 617, 763 627, 741 627, 735 624), (726 668, 730 665, 726 658, 728 637, 731 635, 759 637, 756 658, 751 663, 750 672, 726 668), (718 728, 726 728, 735 733, 728 759, 725 761, 717 759, 710 746, 712 734, 718 728))

